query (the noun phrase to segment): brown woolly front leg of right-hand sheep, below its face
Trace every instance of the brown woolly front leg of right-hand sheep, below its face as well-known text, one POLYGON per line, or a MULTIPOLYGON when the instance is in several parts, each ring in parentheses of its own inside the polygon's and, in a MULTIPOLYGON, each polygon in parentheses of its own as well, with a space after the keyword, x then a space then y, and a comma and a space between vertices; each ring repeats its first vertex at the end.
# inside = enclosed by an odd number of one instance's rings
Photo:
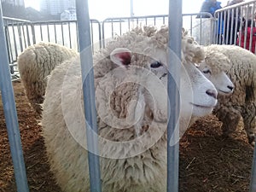
POLYGON ((235 108, 223 107, 218 110, 216 116, 222 121, 222 131, 224 136, 229 136, 232 132, 236 131, 236 127, 241 118, 241 113, 235 108))

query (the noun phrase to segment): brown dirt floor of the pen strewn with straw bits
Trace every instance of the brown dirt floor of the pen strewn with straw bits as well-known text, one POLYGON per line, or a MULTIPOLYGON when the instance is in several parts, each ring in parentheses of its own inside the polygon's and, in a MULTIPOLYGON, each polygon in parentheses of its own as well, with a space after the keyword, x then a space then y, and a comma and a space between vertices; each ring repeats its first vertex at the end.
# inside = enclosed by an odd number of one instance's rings
MULTIPOLYGON (((39 116, 29 106, 20 82, 14 82, 15 102, 31 192, 60 192, 40 136, 39 116)), ((1 97, 0 97, 1 99, 1 97)), ((201 119, 180 141, 180 192, 245 192, 249 189, 253 147, 247 143, 242 124, 231 137, 223 137, 214 116, 201 119)), ((0 102, 0 192, 15 192, 9 140, 0 102)))

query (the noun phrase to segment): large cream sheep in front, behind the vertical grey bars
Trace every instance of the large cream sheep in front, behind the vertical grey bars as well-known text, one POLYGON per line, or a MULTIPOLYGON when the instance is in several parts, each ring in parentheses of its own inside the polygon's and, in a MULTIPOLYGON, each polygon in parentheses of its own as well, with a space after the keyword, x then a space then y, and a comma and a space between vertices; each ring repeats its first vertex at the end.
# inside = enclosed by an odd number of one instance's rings
MULTIPOLYGON (((103 192, 166 191, 166 49, 129 32, 93 56, 103 192)), ((80 70, 79 57, 55 67, 43 103, 49 165, 65 192, 90 190, 80 70)), ((212 112, 217 90, 190 61, 180 84, 183 129, 191 113, 212 112)))

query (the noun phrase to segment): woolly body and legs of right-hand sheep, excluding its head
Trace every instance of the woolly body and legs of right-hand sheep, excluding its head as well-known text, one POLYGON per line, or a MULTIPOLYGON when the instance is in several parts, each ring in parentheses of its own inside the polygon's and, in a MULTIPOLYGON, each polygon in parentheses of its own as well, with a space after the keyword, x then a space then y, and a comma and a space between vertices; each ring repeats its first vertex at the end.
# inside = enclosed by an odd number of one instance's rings
MULTIPOLYGON (((225 64, 229 65, 227 75, 235 84, 235 89, 230 96, 218 94, 218 105, 213 110, 213 114, 223 123, 224 136, 229 136, 235 131, 242 118, 248 143, 255 142, 256 56, 236 45, 212 44, 204 49, 206 53, 215 52, 230 59, 230 62, 225 64)), ((218 63, 218 58, 214 59, 218 63)), ((219 69, 226 71, 226 67, 223 68, 223 66, 219 69)))

